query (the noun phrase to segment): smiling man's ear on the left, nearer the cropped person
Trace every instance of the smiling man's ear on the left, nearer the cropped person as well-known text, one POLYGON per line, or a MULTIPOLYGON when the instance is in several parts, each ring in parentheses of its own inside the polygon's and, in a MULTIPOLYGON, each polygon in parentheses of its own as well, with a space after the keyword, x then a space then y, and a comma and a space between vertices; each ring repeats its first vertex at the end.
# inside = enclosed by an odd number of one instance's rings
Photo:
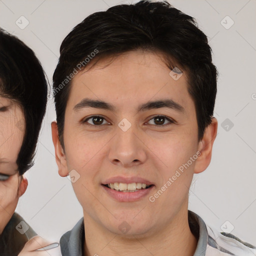
POLYGON ((52 142, 55 147, 55 160, 58 166, 58 174, 61 177, 65 177, 68 175, 66 157, 65 157, 64 150, 59 141, 58 126, 56 121, 51 122, 51 136, 52 136, 52 142))

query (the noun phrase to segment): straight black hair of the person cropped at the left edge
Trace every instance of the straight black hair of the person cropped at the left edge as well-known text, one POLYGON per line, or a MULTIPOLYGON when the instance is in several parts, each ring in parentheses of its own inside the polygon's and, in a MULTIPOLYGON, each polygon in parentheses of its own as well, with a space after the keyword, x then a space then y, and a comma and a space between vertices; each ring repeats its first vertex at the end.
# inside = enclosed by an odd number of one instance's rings
POLYGON ((0 96, 17 102, 23 111, 24 137, 16 163, 22 175, 33 157, 47 102, 47 82, 34 52, 17 37, 0 29, 0 96))

